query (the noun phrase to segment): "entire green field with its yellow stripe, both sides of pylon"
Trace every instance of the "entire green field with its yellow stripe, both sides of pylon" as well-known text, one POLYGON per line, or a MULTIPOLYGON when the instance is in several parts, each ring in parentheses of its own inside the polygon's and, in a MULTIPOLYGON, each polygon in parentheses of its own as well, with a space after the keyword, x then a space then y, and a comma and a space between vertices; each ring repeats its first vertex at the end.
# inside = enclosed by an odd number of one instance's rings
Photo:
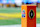
MULTIPOLYGON (((36 11, 37 23, 40 23, 40 9, 36 11)), ((21 24, 21 8, 0 8, 0 25, 21 24)))

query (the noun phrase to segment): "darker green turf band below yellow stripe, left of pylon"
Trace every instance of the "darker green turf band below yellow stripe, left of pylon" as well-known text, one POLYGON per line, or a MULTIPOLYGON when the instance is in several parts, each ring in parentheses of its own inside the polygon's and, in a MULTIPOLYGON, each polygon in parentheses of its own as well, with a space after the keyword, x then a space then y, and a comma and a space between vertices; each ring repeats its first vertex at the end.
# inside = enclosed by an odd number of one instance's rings
POLYGON ((14 24, 21 24, 21 18, 0 20, 0 25, 14 25, 14 24))

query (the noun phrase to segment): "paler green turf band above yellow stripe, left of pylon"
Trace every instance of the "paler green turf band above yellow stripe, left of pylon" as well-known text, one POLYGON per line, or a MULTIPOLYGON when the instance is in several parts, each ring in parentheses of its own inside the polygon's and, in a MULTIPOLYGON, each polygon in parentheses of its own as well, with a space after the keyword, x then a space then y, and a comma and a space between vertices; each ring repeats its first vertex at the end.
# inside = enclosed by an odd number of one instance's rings
POLYGON ((21 8, 1 8, 0 13, 20 13, 21 8))

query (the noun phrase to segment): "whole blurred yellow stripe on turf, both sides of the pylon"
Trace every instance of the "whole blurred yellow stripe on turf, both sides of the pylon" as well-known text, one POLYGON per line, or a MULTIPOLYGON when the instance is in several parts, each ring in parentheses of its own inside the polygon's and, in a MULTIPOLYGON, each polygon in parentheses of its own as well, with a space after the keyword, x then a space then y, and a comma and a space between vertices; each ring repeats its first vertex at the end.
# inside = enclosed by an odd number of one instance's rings
MULTIPOLYGON (((21 13, 0 13, 0 19, 21 18, 21 13)), ((40 13, 36 13, 36 18, 40 18, 40 13)))

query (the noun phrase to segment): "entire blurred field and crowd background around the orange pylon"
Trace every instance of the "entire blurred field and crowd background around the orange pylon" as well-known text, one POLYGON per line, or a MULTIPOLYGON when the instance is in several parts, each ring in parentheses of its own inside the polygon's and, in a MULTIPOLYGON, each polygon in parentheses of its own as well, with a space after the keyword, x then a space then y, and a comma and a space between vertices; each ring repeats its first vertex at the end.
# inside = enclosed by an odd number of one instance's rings
POLYGON ((40 25, 40 0, 0 0, 0 27, 21 27, 21 5, 36 5, 36 22, 40 25))

